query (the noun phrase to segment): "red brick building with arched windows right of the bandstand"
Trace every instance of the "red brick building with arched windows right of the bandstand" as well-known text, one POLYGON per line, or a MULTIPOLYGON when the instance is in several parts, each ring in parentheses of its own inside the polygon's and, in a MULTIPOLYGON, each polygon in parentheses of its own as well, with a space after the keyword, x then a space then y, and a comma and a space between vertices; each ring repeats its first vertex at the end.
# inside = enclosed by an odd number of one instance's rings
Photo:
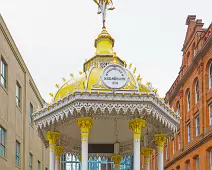
POLYGON ((181 123, 165 147, 164 169, 212 170, 212 24, 205 29, 201 19, 190 15, 186 25, 182 66, 166 94, 181 123))

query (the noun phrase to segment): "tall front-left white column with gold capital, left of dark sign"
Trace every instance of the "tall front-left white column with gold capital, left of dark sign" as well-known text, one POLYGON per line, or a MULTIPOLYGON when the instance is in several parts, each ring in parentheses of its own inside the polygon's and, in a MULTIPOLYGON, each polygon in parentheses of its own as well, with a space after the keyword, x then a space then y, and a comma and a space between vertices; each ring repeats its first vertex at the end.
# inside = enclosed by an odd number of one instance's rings
POLYGON ((88 137, 93 126, 92 118, 79 118, 78 126, 81 129, 82 170, 88 170, 88 137))

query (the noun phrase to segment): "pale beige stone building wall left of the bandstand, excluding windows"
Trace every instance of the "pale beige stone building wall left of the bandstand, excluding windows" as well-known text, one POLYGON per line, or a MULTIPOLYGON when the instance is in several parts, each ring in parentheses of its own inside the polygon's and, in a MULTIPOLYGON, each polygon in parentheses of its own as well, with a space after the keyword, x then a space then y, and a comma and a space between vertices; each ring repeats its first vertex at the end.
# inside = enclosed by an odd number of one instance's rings
MULTIPOLYGON (((0 57, 6 61, 7 88, 0 85, 0 126, 6 130, 6 156, 0 157, 2 170, 28 170, 29 153, 33 154, 33 169, 48 168, 48 150, 30 124, 30 103, 34 111, 42 107, 43 100, 0 16, 0 57), (21 86, 21 107, 16 106, 16 82, 21 86), (16 166, 16 140, 21 144, 20 167, 16 166)), ((0 83, 1 84, 1 83, 0 83)))

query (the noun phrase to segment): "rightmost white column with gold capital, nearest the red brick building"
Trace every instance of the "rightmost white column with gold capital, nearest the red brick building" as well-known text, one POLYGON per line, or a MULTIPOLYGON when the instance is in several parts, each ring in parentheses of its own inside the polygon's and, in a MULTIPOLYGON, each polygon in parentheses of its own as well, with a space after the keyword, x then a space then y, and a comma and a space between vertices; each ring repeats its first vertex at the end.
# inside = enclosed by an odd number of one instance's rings
POLYGON ((157 145, 158 152, 158 170, 164 170, 164 146, 166 144, 166 134, 156 134, 155 143, 157 145))

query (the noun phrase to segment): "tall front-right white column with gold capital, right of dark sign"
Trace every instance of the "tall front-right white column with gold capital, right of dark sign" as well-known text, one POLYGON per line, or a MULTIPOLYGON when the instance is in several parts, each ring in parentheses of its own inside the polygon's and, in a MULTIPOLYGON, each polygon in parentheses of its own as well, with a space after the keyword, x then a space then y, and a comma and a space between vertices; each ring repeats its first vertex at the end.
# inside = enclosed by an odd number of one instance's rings
POLYGON ((133 157, 133 169, 140 170, 141 168, 141 156, 140 156, 140 138, 142 128, 146 127, 146 121, 136 118, 129 122, 129 128, 134 132, 134 157, 133 157))

